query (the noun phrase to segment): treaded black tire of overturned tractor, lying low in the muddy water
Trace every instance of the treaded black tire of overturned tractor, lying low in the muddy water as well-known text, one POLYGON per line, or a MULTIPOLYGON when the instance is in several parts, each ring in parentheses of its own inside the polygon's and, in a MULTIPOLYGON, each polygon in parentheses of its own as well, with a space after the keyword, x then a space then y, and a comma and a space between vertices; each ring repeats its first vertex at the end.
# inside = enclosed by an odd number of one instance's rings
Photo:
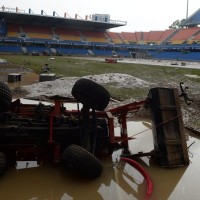
POLYGON ((97 178, 103 171, 101 162, 93 154, 74 144, 65 149, 62 161, 67 167, 88 178, 97 178))

